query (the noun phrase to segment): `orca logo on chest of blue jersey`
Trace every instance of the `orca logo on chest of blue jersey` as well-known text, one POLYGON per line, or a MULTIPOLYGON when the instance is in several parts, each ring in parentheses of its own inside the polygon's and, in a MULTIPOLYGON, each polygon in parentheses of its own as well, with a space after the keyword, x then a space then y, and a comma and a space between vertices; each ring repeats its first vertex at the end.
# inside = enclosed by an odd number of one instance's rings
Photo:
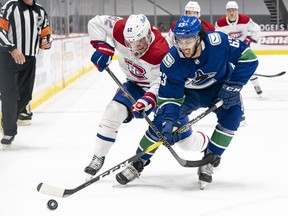
POLYGON ((197 70, 194 78, 188 78, 185 87, 190 89, 206 88, 216 82, 216 79, 213 78, 215 75, 216 72, 204 73, 202 70, 197 70))

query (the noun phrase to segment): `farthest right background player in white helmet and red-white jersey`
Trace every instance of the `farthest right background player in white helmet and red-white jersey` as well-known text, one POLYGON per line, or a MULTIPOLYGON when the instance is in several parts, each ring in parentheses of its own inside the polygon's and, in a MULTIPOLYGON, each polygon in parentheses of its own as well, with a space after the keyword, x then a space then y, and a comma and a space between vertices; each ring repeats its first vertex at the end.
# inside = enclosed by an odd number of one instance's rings
MULTIPOLYGON (((238 9, 238 4, 235 1, 228 1, 226 4, 226 15, 220 17, 215 23, 216 30, 244 41, 248 46, 250 46, 250 43, 257 43, 260 26, 249 16, 240 14, 238 9)), ((260 88, 258 77, 253 75, 250 81, 256 93, 261 96, 262 89, 260 88)))

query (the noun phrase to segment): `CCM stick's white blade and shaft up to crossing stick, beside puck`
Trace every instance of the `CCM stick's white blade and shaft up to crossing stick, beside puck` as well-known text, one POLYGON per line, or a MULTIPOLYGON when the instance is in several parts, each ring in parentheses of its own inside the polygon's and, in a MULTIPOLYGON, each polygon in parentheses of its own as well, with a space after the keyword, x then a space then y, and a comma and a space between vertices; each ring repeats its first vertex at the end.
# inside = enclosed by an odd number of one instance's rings
POLYGON ((149 146, 148 148, 144 149, 143 151, 139 152, 138 154, 128 158, 127 160, 117 164, 116 166, 112 167, 111 169, 101 173, 98 176, 95 176, 94 178, 90 179, 89 181, 75 187, 72 189, 64 189, 64 188, 59 188, 59 187, 55 187, 52 185, 48 185, 45 183, 40 183, 37 186, 37 191, 46 195, 50 195, 50 196, 55 196, 55 197, 68 197, 80 190, 82 190, 83 188, 88 187, 89 185, 99 181, 100 179, 104 178, 105 176, 115 172, 116 170, 120 169, 122 166, 125 166, 127 164, 129 164, 130 162, 133 162, 135 160, 137 160, 138 158, 140 158, 141 156, 143 156, 144 154, 147 154, 151 151, 153 151, 154 149, 158 148, 160 145, 162 144, 162 142, 156 142, 153 145, 149 146))

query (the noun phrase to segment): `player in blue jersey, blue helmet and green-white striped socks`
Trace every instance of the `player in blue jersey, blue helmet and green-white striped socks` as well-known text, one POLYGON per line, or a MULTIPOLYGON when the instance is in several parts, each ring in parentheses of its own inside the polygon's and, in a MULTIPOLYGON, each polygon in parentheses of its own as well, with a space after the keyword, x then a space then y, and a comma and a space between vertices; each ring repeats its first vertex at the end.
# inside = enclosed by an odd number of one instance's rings
MULTIPOLYGON (((256 70, 258 60, 245 43, 222 32, 205 32, 196 17, 182 16, 174 35, 176 45, 160 66, 161 83, 154 124, 173 145, 183 139, 181 134, 172 132, 178 126, 177 122, 199 108, 223 100, 222 107, 215 111, 217 125, 204 151, 204 157, 213 154, 214 161, 198 168, 199 186, 204 189, 212 182, 214 164, 220 160, 239 127, 242 116, 240 91, 256 70)), ((158 140, 149 128, 137 152, 158 140)), ((128 165, 116 175, 117 181, 127 184, 139 177, 152 155, 144 155, 128 165)))

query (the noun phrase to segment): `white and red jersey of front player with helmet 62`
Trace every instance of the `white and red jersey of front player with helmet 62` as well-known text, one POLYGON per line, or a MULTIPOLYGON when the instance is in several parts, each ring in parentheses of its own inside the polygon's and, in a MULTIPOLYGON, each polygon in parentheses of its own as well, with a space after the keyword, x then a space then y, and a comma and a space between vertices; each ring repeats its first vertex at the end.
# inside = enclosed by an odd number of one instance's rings
POLYGON ((95 16, 88 23, 90 40, 92 42, 110 39, 117 50, 118 63, 126 79, 158 95, 160 63, 169 51, 168 43, 161 32, 152 26, 149 49, 140 58, 136 58, 125 45, 123 35, 125 23, 126 19, 121 17, 95 16))

